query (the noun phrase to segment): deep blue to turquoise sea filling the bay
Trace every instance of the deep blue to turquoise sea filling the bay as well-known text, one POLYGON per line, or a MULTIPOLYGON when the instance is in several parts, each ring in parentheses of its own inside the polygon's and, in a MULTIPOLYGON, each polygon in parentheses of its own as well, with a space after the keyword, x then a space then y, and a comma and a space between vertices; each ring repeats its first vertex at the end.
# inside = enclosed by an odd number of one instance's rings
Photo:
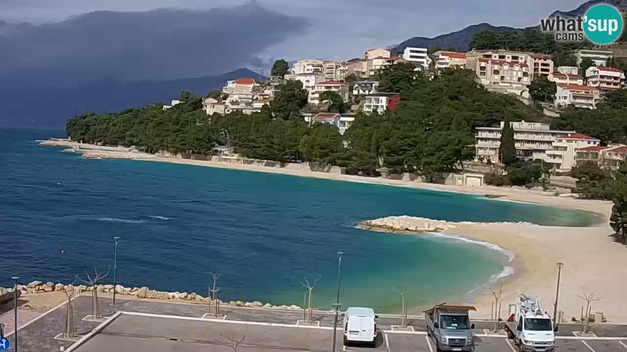
MULTIPOLYGON (((86 160, 36 139, 63 132, 0 130, 0 286, 18 275, 71 282, 106 271, 120 236, 118 281, 207 296, 221 272, 223 300, 303 303, 303 276, 320 277, 314 304, 399 311, 464 299, 507 273, 507 252, 442 236, 356 229, 361 220, 589 225, 593 215, 430 190, 133 160, 86 160), (65 251, 61 254, 60 251, 65 251), (505 272, 504 272, 505 271, 505 272)), ((112 279, 112 274, 107 279, 112 279)))

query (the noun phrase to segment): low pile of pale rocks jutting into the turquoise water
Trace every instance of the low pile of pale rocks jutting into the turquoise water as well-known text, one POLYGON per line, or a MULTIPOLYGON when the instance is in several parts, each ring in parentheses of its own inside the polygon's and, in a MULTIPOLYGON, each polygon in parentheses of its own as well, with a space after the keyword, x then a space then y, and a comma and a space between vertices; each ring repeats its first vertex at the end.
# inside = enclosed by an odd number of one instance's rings
POLYGON ((364 230, 375 230, 382 232, 444 232, 448 229, 455 229, 454 223, 445 220, 433 220, 425 217, 413 216, 388 216, 374 220, 366 220, 359 223, 359 227, 364 230))

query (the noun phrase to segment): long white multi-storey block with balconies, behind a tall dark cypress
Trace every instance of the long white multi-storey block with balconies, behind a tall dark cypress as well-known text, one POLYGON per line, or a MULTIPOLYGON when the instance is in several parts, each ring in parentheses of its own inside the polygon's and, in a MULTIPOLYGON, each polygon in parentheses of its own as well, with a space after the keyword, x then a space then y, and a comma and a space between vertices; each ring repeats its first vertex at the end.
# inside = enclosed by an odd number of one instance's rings
MULTIPOLYGON (((478 161, 500 163, 501 132, 505 122, 500 127, 477 127, 475 135, 475 158, 478 161)), ((546 157, 547 150, 553 149, 558 135, 575 133, 574 131, 551 130, 545 123, 539 122, 512 122, 514 128, 514 143, 519 158, 527 160, 542 159, 546 157)))

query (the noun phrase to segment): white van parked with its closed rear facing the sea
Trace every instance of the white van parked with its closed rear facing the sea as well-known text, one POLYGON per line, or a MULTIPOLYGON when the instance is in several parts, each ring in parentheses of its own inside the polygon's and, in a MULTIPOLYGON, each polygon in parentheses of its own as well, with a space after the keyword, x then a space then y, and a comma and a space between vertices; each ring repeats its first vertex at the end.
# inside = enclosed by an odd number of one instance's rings
POLYGON ((377 341, 377 322, 372 308, 350 307, 344 316, 344 344, 371 343, 377 341))

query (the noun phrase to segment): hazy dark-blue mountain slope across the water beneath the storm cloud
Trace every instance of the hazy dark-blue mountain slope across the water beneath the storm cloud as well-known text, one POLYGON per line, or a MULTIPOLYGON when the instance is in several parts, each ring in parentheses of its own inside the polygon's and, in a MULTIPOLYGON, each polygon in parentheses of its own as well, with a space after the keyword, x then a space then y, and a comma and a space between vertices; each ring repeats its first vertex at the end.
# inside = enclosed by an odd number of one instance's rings
POLYGON ((240 68, 217 76, 203 76, 182 80, 139 82, 129 85, 93 85, 71 90, 14 90, 0 88, 0 126, 6 127, 63 127, 65 120, 85 111, 107 111, 139 108, 147 103, 170 103, 182 90, 205 95, 220 89, 225 81, 263 76, 240 68))

